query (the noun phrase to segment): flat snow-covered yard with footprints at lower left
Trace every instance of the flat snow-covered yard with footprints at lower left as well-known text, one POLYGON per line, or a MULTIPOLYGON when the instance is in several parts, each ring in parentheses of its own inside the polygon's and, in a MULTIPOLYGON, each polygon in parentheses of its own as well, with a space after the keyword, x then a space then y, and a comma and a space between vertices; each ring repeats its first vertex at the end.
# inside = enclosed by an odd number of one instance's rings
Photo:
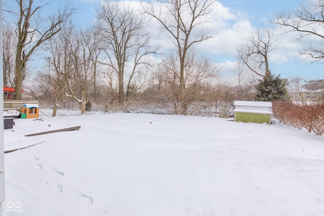
POLYGON ((324 215, 324 136, 152 114, 17 119, 3 215, 324 215), (51 126, 49 126, 49 124, 51 126), (48 128, 78 131, 25 137, 48 128))

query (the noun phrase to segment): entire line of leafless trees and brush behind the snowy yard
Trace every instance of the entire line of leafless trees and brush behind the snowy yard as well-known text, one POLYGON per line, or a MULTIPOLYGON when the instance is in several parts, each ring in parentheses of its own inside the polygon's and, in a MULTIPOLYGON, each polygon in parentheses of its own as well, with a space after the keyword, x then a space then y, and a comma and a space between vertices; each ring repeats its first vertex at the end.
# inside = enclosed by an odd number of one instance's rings
MULTIPOLYGON (((127 111, 131 106, 150 105, 187 115, 230 106, 234 100, 253 100, 258 81, 247 76, 247 71, 261 77, 270 72, 268 55, 276 49, 279 36, 267 26, 251 33, 247 44, 237 47, 238 85, 220 81, 219 65, 197 52, 197 46, 215 33, 205 27, 214 2, 160 3, 166 7, 142 2, 135 10, 123 2, 106 1, 94 24, 80 28, 71 21, 77 12, 71 5, 44 15, 42 10, 49 3, 35 6, 32 0, 17 0, 16 8, 4 7, 8 15, 4 85, 15 88, 16 99, 21 99, 23 81, 35 74, 34 81, 25 82, 23 88, 29 97, 51 104, 53 116, 59 104, 71 101, 82 113, 91 102, 105 109, 127 111), (147 28, 152 21, 159 24, 170 50, 152 47, 147 28), (28 63, 36 58, 45 59, 46 66, 35 73, 28 63)), ((299 39, 324 38, 320 31, 323 2, 316 0, 290 14, 281 13, 273 23, 286 33, 300 32, 299 39)), ((317 61, 322 59, 320 50, 311 44, 301 54, 317 61)))

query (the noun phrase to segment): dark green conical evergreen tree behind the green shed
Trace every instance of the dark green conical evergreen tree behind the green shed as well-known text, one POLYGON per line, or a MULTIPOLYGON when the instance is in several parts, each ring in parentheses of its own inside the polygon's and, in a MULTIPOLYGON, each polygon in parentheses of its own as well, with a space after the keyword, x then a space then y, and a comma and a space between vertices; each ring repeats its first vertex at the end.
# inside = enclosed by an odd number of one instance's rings
POLYGON ((288 99, 285 83, 282 82, 279 75, 274 77, 268 71, 264 75, 264 79, 259 80, 256 87, 256 101, 286 101, 288 99))

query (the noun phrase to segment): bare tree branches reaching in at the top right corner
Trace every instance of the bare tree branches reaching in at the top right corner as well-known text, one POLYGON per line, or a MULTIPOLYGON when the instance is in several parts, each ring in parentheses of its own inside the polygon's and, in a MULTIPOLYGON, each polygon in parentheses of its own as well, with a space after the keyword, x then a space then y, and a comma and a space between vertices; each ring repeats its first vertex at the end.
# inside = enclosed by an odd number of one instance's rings
POLYGON ((324 39, 324 1, 307 1, 301 4, 293 12, 281 12, 277 14, 274 24, 283 27, 288 32, 298 32, 298 40, 307 39, 309 46, 301 48, 300 54, 311 57, 314 62, 324 58, 323 39, 324 39))

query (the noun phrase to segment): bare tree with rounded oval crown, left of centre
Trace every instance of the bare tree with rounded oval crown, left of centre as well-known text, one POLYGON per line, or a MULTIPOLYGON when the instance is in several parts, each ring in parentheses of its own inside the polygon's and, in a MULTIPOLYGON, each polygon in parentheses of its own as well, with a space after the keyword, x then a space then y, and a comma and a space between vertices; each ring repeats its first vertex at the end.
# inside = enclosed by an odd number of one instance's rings
POLYGON ((125 83, 129 98, 133 77, 139 73, 138 67, 149 66, 145 56, 156 53, 156 49, 151 50, 148 46, 149 34, 143 17, 135 14, 128 6, 105 1, 98 11, 97 19, 96 27, 105 41, 103 50, 107 55, 107 60, 103 63, 115 71, 110 75, 117 75, 118 104, 123 106, 125 83))

